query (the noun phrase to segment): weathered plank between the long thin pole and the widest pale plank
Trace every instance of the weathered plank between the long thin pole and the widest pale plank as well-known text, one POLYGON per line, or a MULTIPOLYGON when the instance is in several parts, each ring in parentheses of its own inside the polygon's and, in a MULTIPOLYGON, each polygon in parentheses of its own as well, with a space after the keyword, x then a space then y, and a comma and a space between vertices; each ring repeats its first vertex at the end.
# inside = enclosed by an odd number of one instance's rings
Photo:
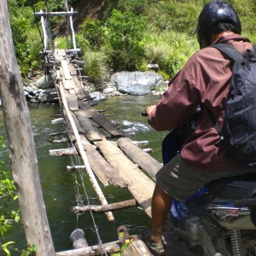
POLYGON ((127 184, 122 181, 119 174, 115 172, 112 166, 99 154, 93 145, 91 145, 84 136, 80 136, 84 150, 86 151, 90 167, 96 176, 106 187, 113 184, 116 187, 126 188, 127 184))

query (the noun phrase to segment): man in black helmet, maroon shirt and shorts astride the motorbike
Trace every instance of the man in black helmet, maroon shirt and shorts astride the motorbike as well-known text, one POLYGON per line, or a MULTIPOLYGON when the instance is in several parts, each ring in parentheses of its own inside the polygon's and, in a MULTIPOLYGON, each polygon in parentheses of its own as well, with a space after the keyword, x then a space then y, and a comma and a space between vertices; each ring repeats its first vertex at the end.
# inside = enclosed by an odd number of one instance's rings
POLYGON ((256 172, 256 166, 241 166, 216 147, 218 132, 207 108, 219 127, 224 125, 224 113, 230 91, 232 63, 211 44, 230 44, 241 53, 252 50, 249 39, 241 37, 241 22, 229 3, 213 0, 202 9, 197 26, 201 50, 185 64, 170 81, 169 88, 157 105, 146 108, 148 124, 157 131, 183 125, 198 105, 201 116, 193 134, 177 154, 156 174, 152 198, 151 232, 143 232, 143 241, 154 255, 164 253, 162 228, 172 207, 172 198, 186 201, 204 184, 222 177, 256 172))

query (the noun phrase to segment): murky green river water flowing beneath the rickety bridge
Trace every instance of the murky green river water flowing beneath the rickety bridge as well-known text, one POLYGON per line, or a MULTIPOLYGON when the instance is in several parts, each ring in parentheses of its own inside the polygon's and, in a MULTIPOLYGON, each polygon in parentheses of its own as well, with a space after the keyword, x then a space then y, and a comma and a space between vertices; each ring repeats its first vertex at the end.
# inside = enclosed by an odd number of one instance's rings
MULTIPOLYGON (((134 136, 131 137, 132 140, 147 140, 148 145, 143 148, 152 148, 153 152, 150 155, 161 162, 160 146, 166 136, 166 131, 154 131, 148 125, 147 118, 141 116, 143 109, 159 100, 160 96, 115 96, 108 97, 106 101, 100 102, 94 108, 97 110, 106 109, 102 114, 107 119, 119 123, 119 128, 124 132, 134 132, 134 136)), ((84 230, 88 244, 92 246, 98 243, 96 229, 102 243, 106 243, 118 240, 117 229, 120 225, 129 225, 130 234, 140 234, 145 227, 150 227, 150 218, 139 208, 113 212, 115 218, 113 222, 108 222, 105 213, 93 213, 91 215, 90 212, 81 212, 81 214, 76 215, 70 212, 70 207, 77 206, 78 195, 84 200, 84 205, 88 204, 87 201, 90 205, 99 205, 100 202, 86 172, 76 172, 75 175, 72 172, 67 172, 67 166, 79 164, 79 158, 49 156, 50 149, 70 146, 66 143, 49 144, 47 142, 47 139, 61 138, 61 136, 49 137, 50 133, 64 131, 62 124, 52 125, 51 123, 51 120, 56 118, 54 115, 60 113, 59 104, 29 104, 28 108, 31 114, 44 204, 55 252, 72 249, 69 236, 76 228, 84 230), (77 185, 78 183, 79 185, 77 185)), ((6 140, 2 112, 0 113, 0 124, 0 135, 6 140)), ((108 135, 105 131, 102 133, 108 135)), ((8 143, 6 142, 6 144, 8 143)), ((8 147, 0 153, 0 160, 5 162, 4 168, 10 170, 8 147)), ((108 203, 132 199, 128 189, 119 189, 112 185, 104 188, 100 182, 99 184, 108 203)), ((17 202, 10 205, 10 209, 16 207, 17 202)), ((6 241, 15 241, 14 247, 19 249, 26 248, 23 228, 15 224, 11 236, 6 236, 3 242, 6 241)), ((20 253, 12 250, 11 255, 20 255, 20 253)))

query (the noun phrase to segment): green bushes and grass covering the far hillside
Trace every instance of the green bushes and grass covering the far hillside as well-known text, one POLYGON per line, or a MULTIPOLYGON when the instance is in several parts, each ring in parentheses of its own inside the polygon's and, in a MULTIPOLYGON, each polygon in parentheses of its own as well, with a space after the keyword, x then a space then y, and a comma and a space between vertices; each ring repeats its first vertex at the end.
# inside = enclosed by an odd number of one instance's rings
MULTIPOLYGON (((198 15, 208 0, 106 0, 103 20, 85 18, 76 33, 81 59, 87 58, 90 67, 84 73, 92 81, 101 80, 106 70, 147 70, 147 64, 158 64, 165 79, 172 78, 184 63, 199 49, 195 27, 198 15), (93 60, 93 61, 92 61, 93 60), (101 67, 102 66, 102 67, 101 67)), ((254 0, 227 0, 240 15, 242 35, 256 43, 254 0)), ((44 1, 8 0, 15 52, 20 73, 42 70, 43 49, 38 26, 39 17, 32 15, 45 9, 44 1)), ((50 11, 64 9, 64 0, 49 1, 50 11)), ((84 2, 68 2, 82 9, 84 2)), ((63 19, 63 17, 62 17, 63 19)), ((61 24, 61 17, 50 18, 51 28, 61 24)), ((40 28, 41 29, 41 28, 40 28)), ((42 33, 42 32, 41 32, 42 33)), ((57 38, 59 48, 72 48, 66 38, 57 38)))

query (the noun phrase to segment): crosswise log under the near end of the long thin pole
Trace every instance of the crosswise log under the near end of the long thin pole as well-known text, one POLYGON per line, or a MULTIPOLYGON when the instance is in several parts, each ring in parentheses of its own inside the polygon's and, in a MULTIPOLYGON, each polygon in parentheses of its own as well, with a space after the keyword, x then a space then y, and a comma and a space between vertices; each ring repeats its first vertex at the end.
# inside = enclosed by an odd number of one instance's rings
POLYGON ((70 212, 108 212, 117 211, 125 208, 137 207, 137 201, 134 199, 128 201, 121 201, 108 206, 84 206, 84 207, 71 207, 70 212))

